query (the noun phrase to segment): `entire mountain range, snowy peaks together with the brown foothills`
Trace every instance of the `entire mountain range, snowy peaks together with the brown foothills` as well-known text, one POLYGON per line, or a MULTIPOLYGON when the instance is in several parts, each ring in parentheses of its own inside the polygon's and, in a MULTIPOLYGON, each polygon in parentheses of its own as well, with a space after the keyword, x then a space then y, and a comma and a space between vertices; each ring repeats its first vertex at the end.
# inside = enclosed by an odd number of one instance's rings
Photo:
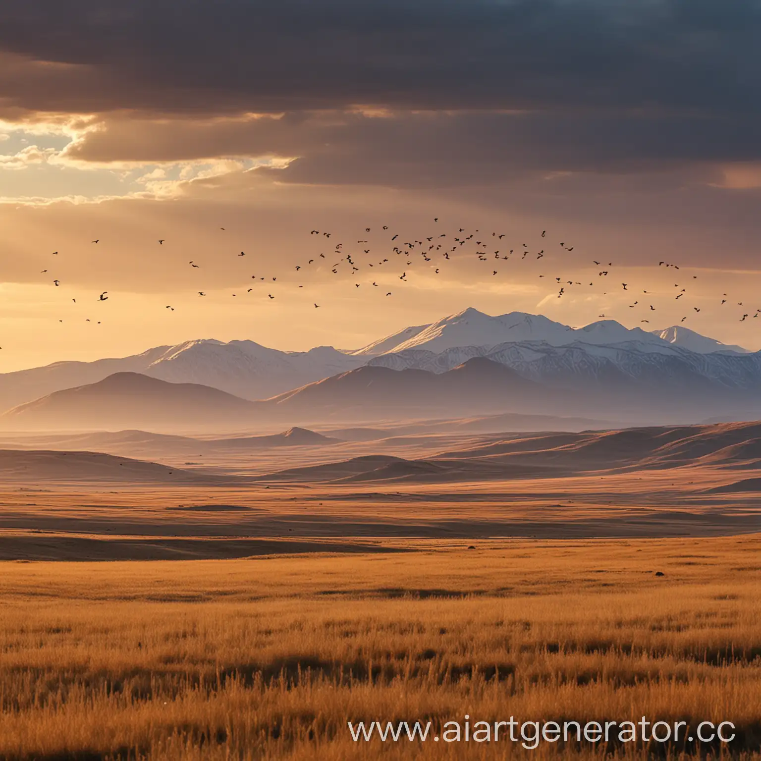
POLYGON ((2 425, 18 430, 233 430, 402 412, 742 419, 761 409, 759 390, 761 352, 680 326, 648 332, 600 320, 572 328, 542 315, 466 309, 352 351, 203 339, 57 362, 0 375, 0 409, 12 408, 2 425))

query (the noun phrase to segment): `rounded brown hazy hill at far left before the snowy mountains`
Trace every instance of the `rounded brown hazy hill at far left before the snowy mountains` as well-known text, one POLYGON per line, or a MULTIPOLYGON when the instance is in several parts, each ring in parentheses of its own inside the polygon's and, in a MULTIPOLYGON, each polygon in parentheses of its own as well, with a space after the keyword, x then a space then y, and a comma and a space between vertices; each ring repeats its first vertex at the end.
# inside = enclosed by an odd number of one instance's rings
POLYGON ((208 386, 116 373, 14 407, 0 416, 0 425, 20 431, 193 428, 253 422, 255 410, 256 403, 208 386))

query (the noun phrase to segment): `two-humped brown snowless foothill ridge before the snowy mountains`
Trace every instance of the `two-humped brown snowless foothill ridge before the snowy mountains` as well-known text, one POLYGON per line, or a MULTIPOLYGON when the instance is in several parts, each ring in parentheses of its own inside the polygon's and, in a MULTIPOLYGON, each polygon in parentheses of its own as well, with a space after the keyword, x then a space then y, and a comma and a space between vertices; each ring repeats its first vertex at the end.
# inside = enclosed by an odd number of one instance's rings
MULTIPOLYGON (((128 426, 145 431, 232 431, 274 421, 489 413, 539 406, 544 396, 537 384, 486 358, 473 358, 441 374, 365 366, 260 402, 199 384, 116 373, 95 384, 56 391, 14 407, 0 416, 0 427, 5 431, 119 431, 128 426)), ((226 442, 237 447, 333 443, 304 428, 226 442)), ((205 444, 196 447, 207 448, 205 444)))

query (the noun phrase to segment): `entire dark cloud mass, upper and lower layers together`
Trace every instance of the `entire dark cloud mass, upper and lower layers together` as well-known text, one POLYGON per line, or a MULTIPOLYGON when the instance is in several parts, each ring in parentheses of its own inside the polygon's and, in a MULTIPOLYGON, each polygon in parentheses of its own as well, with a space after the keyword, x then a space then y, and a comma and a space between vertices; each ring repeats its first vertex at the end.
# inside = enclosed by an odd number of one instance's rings
POLYGON ((274 154, 295 182, 683 169, 761 158, 759 39, 758 0, 5 0, 0 116, 100 114, 85 161, 274 154), (215 119, 251 112, 285 116, 215 119))

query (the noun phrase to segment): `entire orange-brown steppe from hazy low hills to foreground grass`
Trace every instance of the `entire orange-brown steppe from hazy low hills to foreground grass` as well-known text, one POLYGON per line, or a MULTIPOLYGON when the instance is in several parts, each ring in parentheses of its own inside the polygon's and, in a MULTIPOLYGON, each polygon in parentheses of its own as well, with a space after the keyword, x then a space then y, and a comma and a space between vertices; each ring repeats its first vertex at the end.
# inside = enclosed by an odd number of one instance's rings
POLYGON ((759 758, 757 427, 8 436, 0 757, 759 758), (347 724, 464 715, 737 735, 347 724))

